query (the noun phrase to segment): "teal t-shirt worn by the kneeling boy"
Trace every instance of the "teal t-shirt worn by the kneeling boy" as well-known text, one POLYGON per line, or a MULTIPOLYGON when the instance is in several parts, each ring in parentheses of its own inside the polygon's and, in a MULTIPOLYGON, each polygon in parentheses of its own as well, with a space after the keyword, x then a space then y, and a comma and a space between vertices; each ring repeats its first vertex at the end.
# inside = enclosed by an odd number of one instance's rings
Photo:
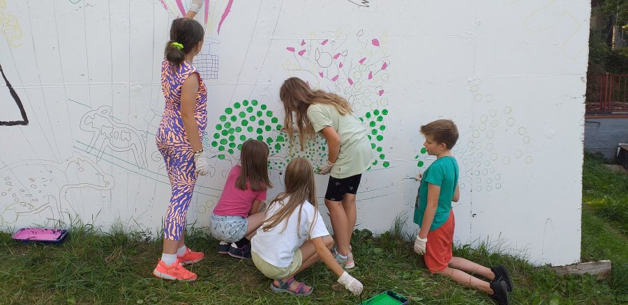
POLYGON ((456 186, 458 185, 458 162, 456 158, 444 156, 436 159, 430 167, 423 173, 421 186, 419 187, 419 200, 414 207, 414 224, 421 226, 423 216, 427 207, 428 183, 440 186, 438 196, 438 207, 434 214, 434 220, 430 230, 436 230, 449 219, 451 211, 451 198, 454 198, 456 186))

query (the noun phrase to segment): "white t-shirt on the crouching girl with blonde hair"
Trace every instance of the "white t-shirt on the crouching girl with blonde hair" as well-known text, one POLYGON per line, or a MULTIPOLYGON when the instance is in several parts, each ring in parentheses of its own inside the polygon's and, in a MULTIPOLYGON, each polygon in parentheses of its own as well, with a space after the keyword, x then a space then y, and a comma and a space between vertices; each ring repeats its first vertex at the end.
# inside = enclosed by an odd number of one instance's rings
MULTIPOLYGON (((285 198, 286 202, 287 200, 288 198, 285 198)), ((281 206, 283 206, 281 202, 271 205, 266 212, 264 221, 272 217, 281 206)), ((294 209, 294 212, 290 214, 285 230, 283 230, 285 220, 266 232, 264 232, 264 225, 262 224, 251 240, 251 251, 255 252, 255 254, 271 265, 280 268, 288 267, 290 263, 292 263, 294 251, 299 249, 301 245, 308 240, 308 237, 309 239, 313 239, 329 235, 329 231, 322 217, 320 217, 320 213, 315 212, 314 206, 308 201, 305 201, 301 206, 301 209, 297 207, 294 209), (299 234, 297 235, 299 210, 301 210, 301 222, 299 224, 299 234), (308 234, 313 221, 315 221, 315 224, 312 226, 312 232, 308 234), (283 230, 283 232, 281 232, 281 230, 283 230)))

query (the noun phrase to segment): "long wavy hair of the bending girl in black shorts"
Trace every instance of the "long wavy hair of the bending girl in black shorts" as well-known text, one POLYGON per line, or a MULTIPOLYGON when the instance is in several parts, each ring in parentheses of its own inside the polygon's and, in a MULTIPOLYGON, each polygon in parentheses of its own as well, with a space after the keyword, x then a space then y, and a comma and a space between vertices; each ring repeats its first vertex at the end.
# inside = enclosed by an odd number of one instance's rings
POLYGON ((313 91, 305 81, 298 77, 290 77, 283 82, 279 89, 279 98, 283 102, 285 120, 283 125, 290 138, 290 147, 294 145, 294 131, 292 130, 292 112, 297 117, 296 122, 299 128, 299 143, 301 150, 305 150, 305 143, 315 139, 315 132, 308 119, 308 107, 311 104, 328 104, 336 107, 341 116, 351 114, 353 110, 350 104, 340 95, 328 93, 321 90, 313 91))

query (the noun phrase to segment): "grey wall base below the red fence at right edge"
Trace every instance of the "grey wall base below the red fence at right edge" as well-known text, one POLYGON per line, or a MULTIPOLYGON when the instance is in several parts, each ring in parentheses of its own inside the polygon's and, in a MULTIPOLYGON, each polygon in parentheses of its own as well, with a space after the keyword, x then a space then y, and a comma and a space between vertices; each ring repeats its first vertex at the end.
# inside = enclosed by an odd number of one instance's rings
POLYGON ((628 118, 585 118, 585 150, 615 159, 618 143, 628 143, 628 118))

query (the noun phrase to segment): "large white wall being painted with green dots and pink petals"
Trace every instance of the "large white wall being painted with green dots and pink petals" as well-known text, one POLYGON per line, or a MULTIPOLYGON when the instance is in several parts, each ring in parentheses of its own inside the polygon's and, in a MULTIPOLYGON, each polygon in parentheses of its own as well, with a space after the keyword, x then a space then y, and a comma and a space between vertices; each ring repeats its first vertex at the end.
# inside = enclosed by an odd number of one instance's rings
MULTIPOLYGON (((170 196, 154 140, 163 111, 160 62, 170 22, 181 14, 177 1, 5 2, 0 65, 17 99, 0 82, 0 226, 78 217, 156 232, 170 196)), ((261 130, 276 154, 269 194, 281 191, 293 155, 276 131, 278 88, 298 76, 347 97, 376 132, 381 153, 357 197, 360 228, 382 232, 405 212, 408 230, 417 229, 410 178, 433 162, 421 152, 418 129, 452 118, 461 132, 458 242, 497 241, 538 264, 579 260, 588 2, 209 2, 198 59, 208 64, 204 141, 215 171, 197 182, 189 223, 208 224, 226 171, 238 162, 239 137, 258 136, 258 127, 271 125, 261 130), (255 116, 253 132, 235 131, 243 109, 244 119, 255 116), (223 136, 216 125, 227 122, 223 136)), ((204 12, 197 19, 204 23, 204 12)), ((320 162, 321 143, 301 155, 320 162)), ((317 178, 321 203, 326 181, 317 178)))

